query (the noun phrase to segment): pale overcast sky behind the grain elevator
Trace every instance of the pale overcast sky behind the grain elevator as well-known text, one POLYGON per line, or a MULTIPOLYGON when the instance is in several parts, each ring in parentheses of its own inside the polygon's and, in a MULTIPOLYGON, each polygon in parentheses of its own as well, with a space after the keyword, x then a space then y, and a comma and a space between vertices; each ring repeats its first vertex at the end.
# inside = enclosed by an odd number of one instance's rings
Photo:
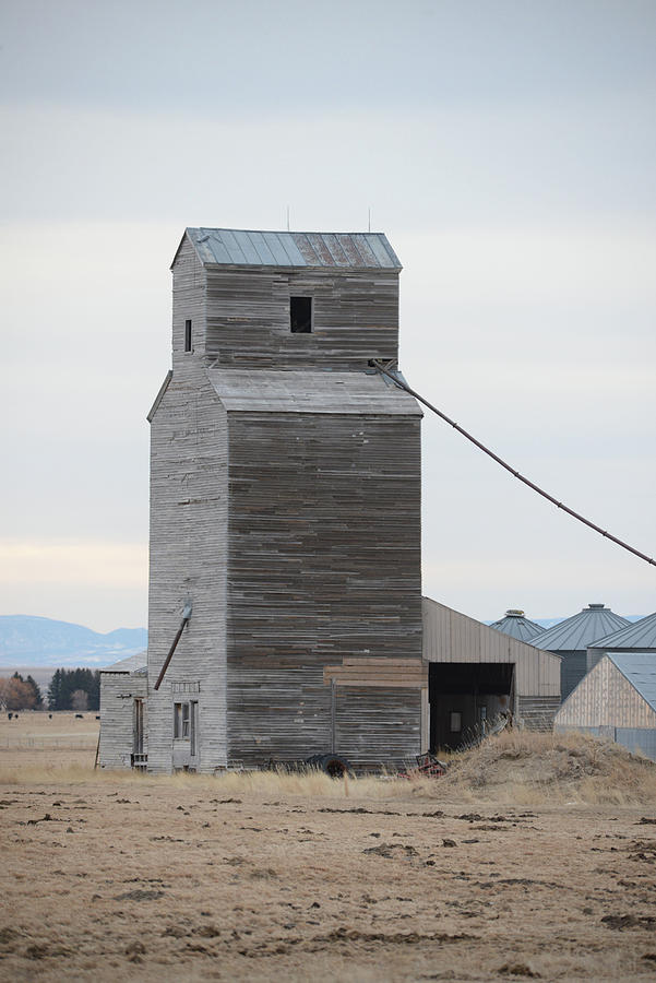
MULTIPOLYGON (((0 614, 146 624, 187 225, 383 230, 406 378, 656 555, 656 2, 2 0, 0 614)), ((656 568, 424 422, 424 591, 656 609, 656 568)))

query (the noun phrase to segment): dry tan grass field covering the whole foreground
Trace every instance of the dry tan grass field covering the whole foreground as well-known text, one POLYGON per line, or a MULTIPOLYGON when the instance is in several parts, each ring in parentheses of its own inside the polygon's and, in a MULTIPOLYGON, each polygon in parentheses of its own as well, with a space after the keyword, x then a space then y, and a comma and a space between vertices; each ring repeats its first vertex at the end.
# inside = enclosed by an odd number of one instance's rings
POLYGON ((509 734, 432 781, 140 777, 94 718, 0 723, 3 980, 656 975, 656 766, 509 734))

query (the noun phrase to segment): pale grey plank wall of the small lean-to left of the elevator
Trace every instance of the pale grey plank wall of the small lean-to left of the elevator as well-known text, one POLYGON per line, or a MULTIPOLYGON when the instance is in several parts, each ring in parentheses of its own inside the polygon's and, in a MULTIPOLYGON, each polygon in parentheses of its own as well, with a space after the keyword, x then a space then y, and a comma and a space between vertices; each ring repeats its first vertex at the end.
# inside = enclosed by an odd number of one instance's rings
MULTIPOLYGON (((102 768, 130 768, 134 739, 134 700, 145 700, 147 679, 134 673, 100 673, 102 768)), ((147 709, 144 706, 144 713, 147 709)), ((145 722, 145 721, 144 721, 145 722)), ((144 733, 144 750, 147 749, 144 733)))

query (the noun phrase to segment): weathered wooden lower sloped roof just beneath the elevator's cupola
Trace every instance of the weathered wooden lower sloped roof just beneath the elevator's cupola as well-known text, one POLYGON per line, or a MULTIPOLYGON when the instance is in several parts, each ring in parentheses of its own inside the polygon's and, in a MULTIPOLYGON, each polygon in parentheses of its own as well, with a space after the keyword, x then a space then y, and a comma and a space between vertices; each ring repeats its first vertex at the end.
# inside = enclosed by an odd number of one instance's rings
POLYGON ((210 369, 228 411, 421 416, 415 399, 379 372, 210 369))

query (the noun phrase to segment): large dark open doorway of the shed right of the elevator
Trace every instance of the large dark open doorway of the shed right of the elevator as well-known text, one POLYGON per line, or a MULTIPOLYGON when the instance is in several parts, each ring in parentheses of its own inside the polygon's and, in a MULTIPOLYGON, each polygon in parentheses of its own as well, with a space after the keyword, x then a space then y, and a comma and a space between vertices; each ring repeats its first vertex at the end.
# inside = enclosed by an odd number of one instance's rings
POLYGON ((431 662, 430 749, 457 750, 512 710, 512 662, 431 662))

